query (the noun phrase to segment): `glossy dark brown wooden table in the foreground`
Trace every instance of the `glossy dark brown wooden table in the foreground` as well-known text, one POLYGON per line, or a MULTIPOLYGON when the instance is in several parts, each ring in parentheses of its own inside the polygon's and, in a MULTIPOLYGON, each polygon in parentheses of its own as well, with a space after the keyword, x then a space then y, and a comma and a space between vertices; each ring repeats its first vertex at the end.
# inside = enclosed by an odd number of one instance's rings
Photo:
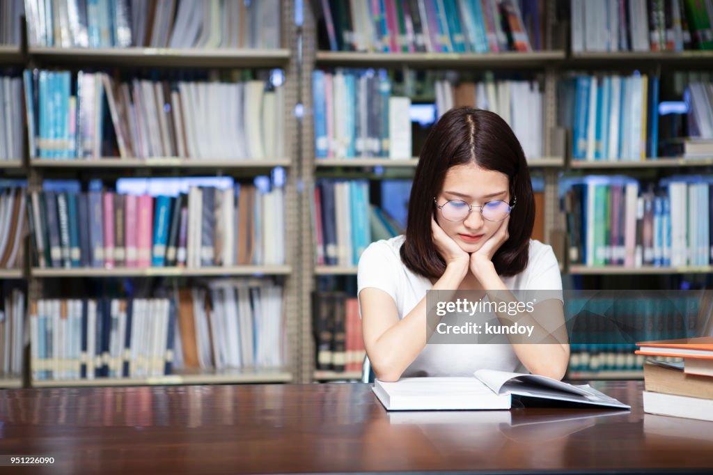
POLYGON ((643 414, 642 382, 595 384, 631 412, 387 413, 366 384, 0 391, 3 473, 713 471, 713 423, 643 414))

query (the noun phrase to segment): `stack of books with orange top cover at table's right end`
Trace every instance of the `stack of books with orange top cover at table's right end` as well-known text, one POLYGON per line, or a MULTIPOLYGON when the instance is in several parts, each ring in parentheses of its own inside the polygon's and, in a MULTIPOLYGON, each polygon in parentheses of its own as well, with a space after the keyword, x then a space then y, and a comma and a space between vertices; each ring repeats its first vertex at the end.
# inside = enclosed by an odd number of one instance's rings
POLYGON ((713 422, 713 337, 637 343, 637 354, 677 357, 644 365, 644 412, 713 422))

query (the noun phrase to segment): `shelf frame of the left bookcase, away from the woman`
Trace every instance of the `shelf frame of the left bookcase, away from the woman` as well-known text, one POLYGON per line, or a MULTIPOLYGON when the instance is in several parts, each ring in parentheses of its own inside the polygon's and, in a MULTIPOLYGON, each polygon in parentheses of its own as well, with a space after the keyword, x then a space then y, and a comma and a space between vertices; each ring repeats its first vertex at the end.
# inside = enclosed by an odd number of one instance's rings
MULTIPOLYGON (((29 46, 26 60, 22 56, 20 63, 28 68, 66 68, 76 71, 78 68, 113 68, 133 74, 135 68, 169 69, 256 69, 269 70, 280 68, 283 71, 282 91, 284 92, 282 121, 284 130, 284 156, 232 159, 225 158, 181 158, 175 156, 150 156, 149 158, 101 157, 93 159, 43 159, 29 156, 28 188, 30 191, 41 190, 43 180, 48 178, 91 179, 101 176, 113 180, 123 177, 176 177, 203 175, 214 177, 252 178, 270 173, 274 168, 284 168, 284 227, 286 235, 297 235, 299 231, 298 213, 298 163, 297 123, 292 111, 298 101, 299 70, 297 66, 298 45, 294 26, 294 1, 279 2, 280 24, 282 28, 279 48, 56 48, 29 46)), ((19 50, 18 50, 19 52, 19 50)), ((0 63, 15 58, 7 48, 0 48, 0 63)), ((145 71, 145 70, 144 70, 145 71)), ((138 73, 140 75, 140 73, 138 73)), ((193 73, 189 73, 193 74, 193 73)), ((140 76, 139 76, 140 77, 140 76)), ((193 77, 193 76, 191 76, 193 77)), ((29 155, 29 150, 26 150, 29 155)), ((205 154, 203 154, 205 155, 205 154)), ((17 162, 21 168, 21 161, 17 162)), ((4 165, 4 163, 0 163, 4 165)), ((299 381, 299 320, 297 316, 299 302, 299 268, 297 267, 297 240, 285 240, 284 265, 225 265, 217 267, 72 267, 40 268, 29 267, 27 271, 28 300, 30 302, 48 298, 47 287, 55 283, 82 282, 91 280, 103 288, 103 280, 123 277, 138 279, 162 277, 167 285, 175 285, 175 280, 183 281, 186 277, 203 277, 207 282, 217 277, 276 277, 282 287, 282 314, 284 328, 284 357, 282 367, 241 367, 234 369, 178 369, 172 374, 159 377, 121 377, 96 379, 32 379, 32 387, 82 387, 116 385, 155 385, 155 384, 244 384, 244 383, 285 383, 299 381), (174 280, 175 279, 175 280, 174 280), (171 284, 173 282, 173 284, 171 284)), ((14 273, 0 273, 0 277, 13 278, 14 273)), ((22 272, 16 273, 21 277, 22 272)), ((143 282, 142 280, 137 282, 143 282)), ((149 281, 147 281, 149 282, 149 281)), ((139 284, 137 284, 139 285, 139 284)), ((88 295, 87 297, 103 297, 88 295)), ((178 322, 176 323, 178 325, 178 322)), ((31 373, 31 372, 30 372, 31 373)))

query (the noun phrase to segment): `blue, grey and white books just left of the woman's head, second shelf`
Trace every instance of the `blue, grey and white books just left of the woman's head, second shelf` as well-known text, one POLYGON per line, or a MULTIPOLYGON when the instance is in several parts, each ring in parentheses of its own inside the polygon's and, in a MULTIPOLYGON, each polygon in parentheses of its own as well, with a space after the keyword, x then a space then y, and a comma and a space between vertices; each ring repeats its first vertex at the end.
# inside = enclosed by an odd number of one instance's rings
POLYGON ((411 158, 411 101, 384 71, 312 73, 317 158, 411 158))

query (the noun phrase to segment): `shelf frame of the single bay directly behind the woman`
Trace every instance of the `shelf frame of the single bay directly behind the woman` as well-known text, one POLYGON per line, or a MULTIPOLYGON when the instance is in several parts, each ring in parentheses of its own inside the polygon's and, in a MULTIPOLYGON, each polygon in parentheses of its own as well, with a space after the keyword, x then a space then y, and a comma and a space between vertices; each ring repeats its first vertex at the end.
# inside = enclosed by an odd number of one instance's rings
MULTIPOLYGON (((549 3, 549 2, 548 2, 549 3)), ((493 69, 496 71, 536 71, 541 77, 543 88, 543 156, 528 159, 528 165, 537 169, 545 183, 545 203, 548 207, 544 213, 545 230, 559 228, 560 215, 557 210, 559 170, 565 168, 563 144, 555 143, 556 140, 556 102, 555 88, 558 66, 566 61, 565 48, 553 47, 553 36, 545 35, 544 51, 529 53, 364 53, 354 51, 319 51, 317 48, 317 26, 312 5, 305 2, 304 13, 304 64, 302 97, 306 105, 312 104, 312 72, 317 68, 386 68, 395 71, 409 71, 411 69, 441 69, 441 70, 466 70, 481 71, 493 69)), ((545 31, 551 28, 555 21, 553 4, 548 4, 548 9, 543 19, 545 31)), ((414 98, 414 101, 433 102, 434 98, 414 98)), ((309 106, 308 106, 309 107, 309 106)), ((314 147, 314 116, 307 114, 304 118, 302 141, 302 176, 304 183, 309 187, 317 183, 318 177, 339 178, 366 178, 378 180, 388 175, 388 178, 408 178, 411 169, 418 164, 418 157, 394 160, 389 158, 316 158, 314 147), (361 168, 356 172, 357 168, 361 168), (379 168, 389 169, 390 172, 382 175, 369 173, 379 168), (401 172, 403 170, 403 172, 401 172), (356 172, 356 173, 355 173, 356 172), (407 175, 408 174, 408 175, 407 175)), ((309 217, 312 199, 305 196, 302 203, 302 213, 309 217)), ((360 372, 327 372, 315 370, 314 340, 312 338, 312 308, 310 295, 316 289, 316 280, 320 277, 334 277, 337 279, 356 276, 356 266, 351 265, 314 265, 315 255, 312 245, 311 219, 304 220, 302 228, 302 268, 304 271, 304 287, 302 291, 302 325, 303 350, 302 374, 311 377, 314 381, 327 381, 332 379, 359 380, 360 372)), ((545 233, 547 234, 547 233, 545 233)), ((563 262, 560 262, 563 264, 563 262)))

